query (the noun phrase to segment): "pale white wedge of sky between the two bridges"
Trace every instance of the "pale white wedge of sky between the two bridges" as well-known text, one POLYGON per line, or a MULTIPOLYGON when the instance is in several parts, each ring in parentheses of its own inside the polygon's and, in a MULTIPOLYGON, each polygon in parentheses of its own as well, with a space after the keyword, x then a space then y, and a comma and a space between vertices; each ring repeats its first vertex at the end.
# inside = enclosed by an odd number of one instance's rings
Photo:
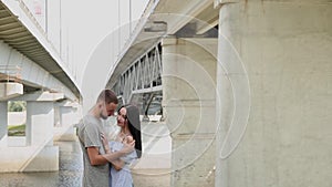
MULTIPOLYGON (((93 105, 149 0, 23 0, 93 105)), ((83 103, 84 105, 84 103, 83 103)), ((90 107, 87 106, 87 107, 90 107)), ((86 110, 85 110, 86 111, 86 110)))

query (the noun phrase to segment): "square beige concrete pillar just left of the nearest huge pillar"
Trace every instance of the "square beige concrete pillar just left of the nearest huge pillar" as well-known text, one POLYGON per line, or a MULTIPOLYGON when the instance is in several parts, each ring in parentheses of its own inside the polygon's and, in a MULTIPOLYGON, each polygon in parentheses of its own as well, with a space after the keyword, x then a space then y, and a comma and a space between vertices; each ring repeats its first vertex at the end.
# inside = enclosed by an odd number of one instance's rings
POLYGON ((162 41, 163 107, 172 132, 172 186, 215 183, 217 42, 176 38, 162 41))

